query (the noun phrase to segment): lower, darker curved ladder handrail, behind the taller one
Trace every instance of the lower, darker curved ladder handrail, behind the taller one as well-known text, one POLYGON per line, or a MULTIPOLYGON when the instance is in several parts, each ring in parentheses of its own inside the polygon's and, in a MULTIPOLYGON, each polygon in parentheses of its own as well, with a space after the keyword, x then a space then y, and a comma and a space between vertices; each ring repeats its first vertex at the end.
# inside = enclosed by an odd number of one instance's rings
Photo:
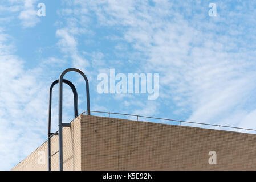
MULTIPOLYGON (((56 84, 58 84, 59 80, 55 80, 52 82, 50 86, 50 94, 49 94, 49 107, 48 107, 48 171, 51 171, 51 137, 52 135, 58 134, 56 133, 51 133, 51 101, 52 101, 52 89, 56 84)), ((70 88, 73 91, 74 94, 74 115, 75 118, 78 117, 78 92, 76 91, 75 86, 72 84, 72 82, 63 79, 63 82, 70 86, 70 88)))

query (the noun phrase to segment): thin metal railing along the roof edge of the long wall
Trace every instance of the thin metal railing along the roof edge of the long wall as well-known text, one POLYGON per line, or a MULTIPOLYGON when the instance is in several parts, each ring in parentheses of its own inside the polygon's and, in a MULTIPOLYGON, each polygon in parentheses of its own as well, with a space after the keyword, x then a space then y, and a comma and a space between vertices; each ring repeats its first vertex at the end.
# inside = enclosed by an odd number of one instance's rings
MULTIPOLYGON (((181 125, 182 123, 189 123, 189 124, 195 124, 195 125, 204 125, 204 126, 216 126, 218 127, 219 130, 224 130, 226 129, 238 129, 238 130, 243 130, 243 131, 255 131, 256 129, 246 129, 243 127, 234 127, 234 126, 224 126, 224 125, 214 125, 214 124, 208 124, 208 123, 200 123, 200 122, 190 122, 190 121, 181 121, 181 120, 175 120, 175 119, 166 119, 166 118, 156 118, 156 117, 148 117, 148 116, 143 116, 143 115, 135 115, 135 114, 123 114, 123 113, 111 113, 111 112, 104 112, 104 111, 90 111, 91 113, 104 113, 108 114, 108 117, 110 118, 111 114, 117 114, 117 115, 125 115, 125 116, 132 116, 132 117, 137 117, 137 121, 139 121, 139 118, 150 118, 150 119, 160 119, 163 121, 173 121, 177 122, 178 125, 181 125)), ((84 111, 82 114, 87 113, 87 111, 84 111)), ((226 130, 224 130, 226 131, 226 130)), ((236 131, 239 132, 239 131, 236 131)))

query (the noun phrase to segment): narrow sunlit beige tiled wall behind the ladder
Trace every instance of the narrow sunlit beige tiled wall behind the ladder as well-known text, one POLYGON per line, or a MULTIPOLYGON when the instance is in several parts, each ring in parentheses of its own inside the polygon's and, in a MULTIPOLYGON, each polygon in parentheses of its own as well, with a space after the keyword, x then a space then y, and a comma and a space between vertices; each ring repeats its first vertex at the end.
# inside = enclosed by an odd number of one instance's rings
MULTIPOLYGON (((51 138, 51 154, 59 149, 58 136, 51 138)), ((40 170, 48 169, 48 142, 37 148, 32 154, 27 156, 22 162, 12 170, 40 170), (42 163, 42 154, 44 154, 45 164, 42 163)), ((51 169, 59 169, 59 153, 51 158, 51 169)), ((80 116, 71 122, 71 127, 63 128, 63 169, 81 170, 81 127, 80 116)))

